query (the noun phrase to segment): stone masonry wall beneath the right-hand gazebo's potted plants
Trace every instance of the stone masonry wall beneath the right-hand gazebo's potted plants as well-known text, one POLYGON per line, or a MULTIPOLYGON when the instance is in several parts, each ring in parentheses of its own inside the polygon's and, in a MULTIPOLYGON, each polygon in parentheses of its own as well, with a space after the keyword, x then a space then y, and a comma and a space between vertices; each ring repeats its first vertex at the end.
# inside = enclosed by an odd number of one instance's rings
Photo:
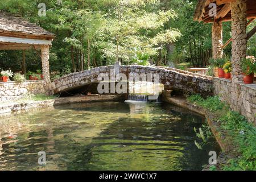
POLYGON ((213 79, 213 93, 220 96, 231 109, 244 115, 248 121, 256 124, 256 84, 234 84, 223 78, 213 79))

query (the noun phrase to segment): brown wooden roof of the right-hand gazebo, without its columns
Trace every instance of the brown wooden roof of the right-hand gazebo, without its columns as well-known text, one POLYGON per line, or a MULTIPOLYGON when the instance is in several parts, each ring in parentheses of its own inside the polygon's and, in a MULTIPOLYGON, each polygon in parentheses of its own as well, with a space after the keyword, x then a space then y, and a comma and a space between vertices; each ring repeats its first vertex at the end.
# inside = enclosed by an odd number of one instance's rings
MULTIPOLYGON (((204 23, 213 23, 215 21, 228 22, 231 21, 230 2, 235 0, 199 0, 196 7, 194 20, 204 23), (210 3, 216 3, 217 16, 209 16, 210 3)), ((256 1, 247 0, 247 19, 256 18, 256 1)))

